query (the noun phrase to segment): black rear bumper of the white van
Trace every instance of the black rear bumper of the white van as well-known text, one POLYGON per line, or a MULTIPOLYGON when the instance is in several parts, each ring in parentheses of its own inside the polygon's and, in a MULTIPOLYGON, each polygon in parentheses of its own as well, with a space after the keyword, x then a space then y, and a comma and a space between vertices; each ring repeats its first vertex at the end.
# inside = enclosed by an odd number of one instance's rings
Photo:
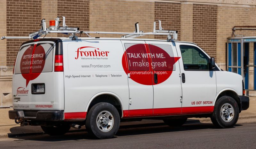
POLYGON ((24 118, 24 120, 35 120, 35 121, 63 121, 64 111, 37 111, 37 110, 10 110, 9 118, 15 120, 17 118, 24 118))

